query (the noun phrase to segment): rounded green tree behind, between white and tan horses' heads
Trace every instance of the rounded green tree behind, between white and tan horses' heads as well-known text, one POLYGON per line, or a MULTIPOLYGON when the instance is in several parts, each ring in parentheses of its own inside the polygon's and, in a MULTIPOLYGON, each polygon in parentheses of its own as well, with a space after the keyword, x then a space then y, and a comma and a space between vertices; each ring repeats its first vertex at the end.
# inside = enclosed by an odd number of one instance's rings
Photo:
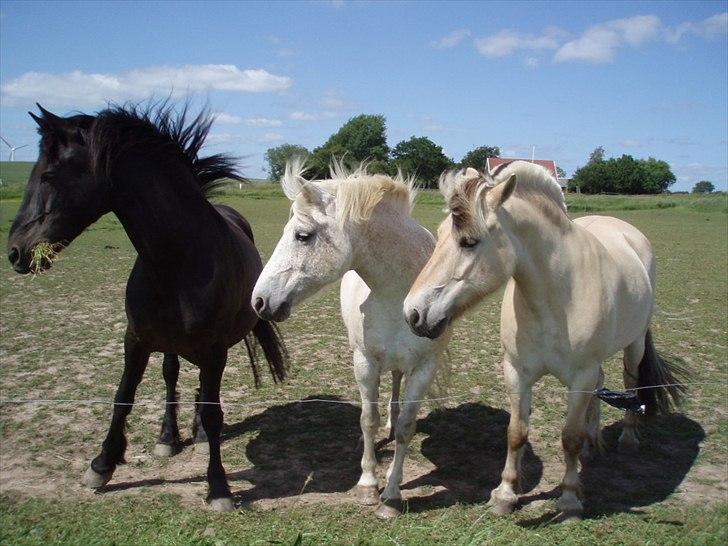
POLYGON ((442 152, 442 147, 427 137, 413 136, 392 149, 392 166, 406 175, 416 175, 425 187, 434 188, 443 171, 455 164, 442 152))

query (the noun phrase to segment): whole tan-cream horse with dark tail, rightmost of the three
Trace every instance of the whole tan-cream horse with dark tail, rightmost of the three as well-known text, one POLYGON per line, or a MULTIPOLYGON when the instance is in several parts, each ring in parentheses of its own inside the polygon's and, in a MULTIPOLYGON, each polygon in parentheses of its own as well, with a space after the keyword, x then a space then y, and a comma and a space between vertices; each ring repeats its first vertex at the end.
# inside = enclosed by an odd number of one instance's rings
MULTIPOLYGON (((655 303, 655 257, 636 228, 605 216, 571 221, 548 172, 514 162, 493 174, 475 169, 441 177, 449 215, 437 246, 405 301, 418 335, 437 337, 488 294, 506 285, 501 308, 503 373, 510 395, 508 455, 490 498, 494 513, 509 513, 518 497, 520 455, 528 440, 531 388, 551 374, 569 389, 562 444, 562 519, 583 512, 577 459, 599 446, 599 401, 604 360, 624 350, 624 384, 638 388, 647 413, 679 401, 675 367, 661 359, 649 331, 655 303), (672 366, 672 368, 671 368, 672 366), (585 441, 586 440, 586 441, 585 441)), ((637 416, 626 413, 620 450, 638 447, 637 416)))

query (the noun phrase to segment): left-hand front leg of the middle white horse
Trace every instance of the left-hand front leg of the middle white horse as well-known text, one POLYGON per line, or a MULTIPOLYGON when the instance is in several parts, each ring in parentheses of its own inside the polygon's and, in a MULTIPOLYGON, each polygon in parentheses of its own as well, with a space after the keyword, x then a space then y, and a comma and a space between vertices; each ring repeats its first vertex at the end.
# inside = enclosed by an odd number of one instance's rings
POLYGON ((375 453, 375 438, 379 430, 379 371, 359 350, 354 351, 354 376, 361 394, 359 422, 364 439, 361 477, 356 486, 356 497, 362 504, 375 505, 379 502, 375 453))

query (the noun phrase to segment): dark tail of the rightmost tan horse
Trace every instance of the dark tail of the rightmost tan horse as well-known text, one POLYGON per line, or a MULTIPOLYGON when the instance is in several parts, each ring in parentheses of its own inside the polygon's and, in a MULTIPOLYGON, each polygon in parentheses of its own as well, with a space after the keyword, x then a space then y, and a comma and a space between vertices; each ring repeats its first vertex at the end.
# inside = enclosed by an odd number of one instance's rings
POLYGON ((647 330, 645 354, 638 368, 637 381, 637 398, 645 405, 645 414, 669 413, 680 405, 687 392, 682 384, 686 377, 685 366, 657 353, 652 334, 647 330))

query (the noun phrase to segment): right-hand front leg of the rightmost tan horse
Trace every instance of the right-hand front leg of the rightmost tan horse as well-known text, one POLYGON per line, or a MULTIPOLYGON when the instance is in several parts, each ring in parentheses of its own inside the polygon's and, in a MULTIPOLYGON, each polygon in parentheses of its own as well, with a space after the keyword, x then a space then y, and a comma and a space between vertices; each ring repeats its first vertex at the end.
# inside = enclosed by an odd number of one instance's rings
POLYGON ((600 373, 601 366, 594 364, 579 373, 569 389, 566 425, 561 432, 561 443, 566 461, 566 472, 561 481, 561 497, 558 501, 562 521, 580 519, 584 511, 581 500, 579 500, 581 492, 579 453, 586 436, 587 410, 594 398, 592 391, 599 381, 600 373))

